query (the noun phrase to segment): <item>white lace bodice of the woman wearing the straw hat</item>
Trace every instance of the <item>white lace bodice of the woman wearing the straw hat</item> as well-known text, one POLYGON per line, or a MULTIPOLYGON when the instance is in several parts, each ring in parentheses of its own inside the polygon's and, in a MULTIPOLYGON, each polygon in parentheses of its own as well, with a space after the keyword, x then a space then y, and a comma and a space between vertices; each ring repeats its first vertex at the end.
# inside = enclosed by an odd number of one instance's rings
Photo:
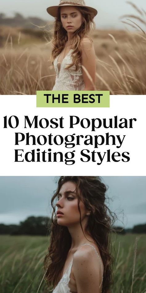
POLYGON ((64 57, 63 61, 58 62, 59 55, 54 60, 54 68, 56 71, 55 85, 52 91, 82 91, 84 89, 84 81, 82 67, 79 64, 79 69, 75 70, 75 65, 69 69, 65 69, 72 63, 71 49, 64 57))

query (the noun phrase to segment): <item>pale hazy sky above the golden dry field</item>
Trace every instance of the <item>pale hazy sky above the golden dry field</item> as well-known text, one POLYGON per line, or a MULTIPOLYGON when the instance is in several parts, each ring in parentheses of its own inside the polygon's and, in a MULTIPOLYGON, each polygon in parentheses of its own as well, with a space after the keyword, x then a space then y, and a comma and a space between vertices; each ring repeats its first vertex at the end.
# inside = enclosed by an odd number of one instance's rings
MULTIPOLYGON (((99 29, 125 28, 125 25, 119 20, 120 16, 125 14, 140 16, 140 14, 127 2, 125 0, 85 0, 87 6, 95 7, 98 10, 95 23, 96 27, 99 29)), ((138 6, 138 8, 143 8, 146 11, 146 0, 133 0, 131 2, 138 6)), ((6 13, 7 16, 12 16, 14 12, 19 12, 25 17, 38 16, 50 21, 53 20, 53 18, 47 13, 46 8, 58 4, 59 0, 1 0, 0 12, 6 13)), ((143 19, 144 18, 145 15, 143 15, 143 19)), ((141 26, 144 28, 142 24, 141 26)), ((130 29, 128 25, 126 25, 126 28, 130 29)))

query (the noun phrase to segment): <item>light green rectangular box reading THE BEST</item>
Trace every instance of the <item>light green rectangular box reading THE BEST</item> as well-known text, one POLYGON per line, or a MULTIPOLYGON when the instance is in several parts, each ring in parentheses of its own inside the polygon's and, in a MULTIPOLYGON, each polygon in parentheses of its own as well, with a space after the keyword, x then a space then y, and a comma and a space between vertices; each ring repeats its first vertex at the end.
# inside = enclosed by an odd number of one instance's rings
POLYGON ((43 108, 109 108, 110 91, 37 91, 36 106, 43 108))

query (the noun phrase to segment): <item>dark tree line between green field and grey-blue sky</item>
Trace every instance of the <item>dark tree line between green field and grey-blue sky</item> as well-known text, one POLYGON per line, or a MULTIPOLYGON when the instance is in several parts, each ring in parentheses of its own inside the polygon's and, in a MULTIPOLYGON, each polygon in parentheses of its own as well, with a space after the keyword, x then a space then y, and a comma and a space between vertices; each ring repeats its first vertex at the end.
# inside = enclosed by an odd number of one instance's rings
MULTIPOLYGON (((114 227, 118 234, 124 235, 126 233, 146 233, 146 224, 134 226, 132 229, 124 229, 122 227, 114 227)), ((5 225, 0 224, 0 234, 9 235, 49 235, 51 231, 51 219, 47 217, 30 216, 25 221, 20 222, 19 225, 5 225)))

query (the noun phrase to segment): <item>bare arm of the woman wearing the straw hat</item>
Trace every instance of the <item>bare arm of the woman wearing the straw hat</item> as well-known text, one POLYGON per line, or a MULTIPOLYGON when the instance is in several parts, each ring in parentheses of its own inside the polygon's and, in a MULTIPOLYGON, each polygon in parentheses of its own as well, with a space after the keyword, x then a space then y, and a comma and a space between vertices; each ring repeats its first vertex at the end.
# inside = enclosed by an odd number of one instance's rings
POLYGON ((95 91, 96 62, 94 46, 90 39, 83 38, 81 42, 81 47, 81 63, 83 66, 82 72, 85 84, 84 91, 95 91))

